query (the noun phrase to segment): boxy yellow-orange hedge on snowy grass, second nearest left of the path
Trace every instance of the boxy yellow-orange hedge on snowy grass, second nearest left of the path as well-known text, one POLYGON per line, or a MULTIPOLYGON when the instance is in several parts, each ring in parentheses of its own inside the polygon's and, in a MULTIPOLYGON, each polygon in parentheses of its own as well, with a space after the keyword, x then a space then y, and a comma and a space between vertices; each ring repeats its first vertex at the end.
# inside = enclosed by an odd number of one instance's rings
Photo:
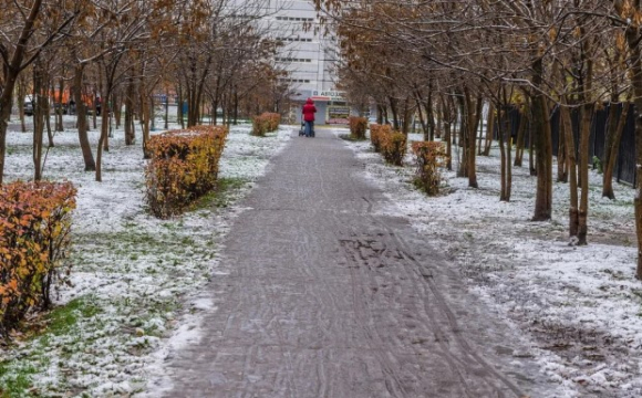
POLYGON ((195 126, 152 137, 145 168, 146 200, 154 216, 178 214, 214 188, 228 129, 195 126))

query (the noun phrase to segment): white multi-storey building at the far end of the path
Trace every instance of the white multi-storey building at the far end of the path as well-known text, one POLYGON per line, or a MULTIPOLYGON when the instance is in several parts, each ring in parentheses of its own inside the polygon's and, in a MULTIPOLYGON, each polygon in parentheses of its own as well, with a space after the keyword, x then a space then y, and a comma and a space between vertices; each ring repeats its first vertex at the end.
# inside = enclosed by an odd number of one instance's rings
POLYGON ((276 60, 289 72, 283 77, 292 88, 291 114, 301 119, 300 107, 307 98, 317 106, 317 123, 346 118, 349 107, 335 90, 333 38, 324 35, 312 0, 269 0, 268 21, 273 36, 284 45, 276 60))

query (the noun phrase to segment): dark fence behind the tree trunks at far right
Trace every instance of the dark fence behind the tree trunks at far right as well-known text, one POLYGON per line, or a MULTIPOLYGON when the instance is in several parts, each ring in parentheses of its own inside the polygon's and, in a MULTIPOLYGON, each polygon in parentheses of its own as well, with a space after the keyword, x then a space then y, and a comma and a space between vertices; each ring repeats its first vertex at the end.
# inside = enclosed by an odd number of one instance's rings
MULTIPOLYGON (((603 108, 596 111, 593 115, 593 121, 591 123, 591 137, 589 144, 589 159, 594 165, 594 158, 600 159, 603 164, 604 161, 604 144, 607 138, 607 124, 609 123, 609 111, 611 106, 618 107, 618 118, 622 114, 622 104, 605 105, 603 108)), ((633 106, 633 105, 631 105, 633 106)), ((618 153, 618 163, 615 165, 614 176, 618 182, 628 182, 635 185, 635 121, 633 118, 633 108, 629 111, 627 117, 627 124, 624 125, 624 130, 622 132, 622 139, 620 142, 620 149, 618 153)), ((517 109, 509 112, 509 123, 510 132, 512 137, 517 137, 517 130, 519 128, 519 123, 521 121, 521 115, 517 109)), ((558 108, 555 108, 550 115, 550 129, 552 135, 552 153, 555 156, 558 155, 559 150, 559 134, 560 134, 560 113, 558 108)), ((571 113, 572 130, 576 142, 576 153, 579 146, 579 112, 574 109, 571 113)), ((530 126, 526 126, 525 130, 525 145, 528 147, 530 139, 530 126)), ((578 159, 579 159, 579 154, 578 159)))

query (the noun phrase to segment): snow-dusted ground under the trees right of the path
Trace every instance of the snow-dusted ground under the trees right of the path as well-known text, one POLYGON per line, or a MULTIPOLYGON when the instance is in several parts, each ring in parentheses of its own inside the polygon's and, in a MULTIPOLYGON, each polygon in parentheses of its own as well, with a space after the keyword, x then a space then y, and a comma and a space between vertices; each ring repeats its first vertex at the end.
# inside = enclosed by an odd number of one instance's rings
POLYGON ((642 396, 642 284, 634 279, 630 186, 615 185, 611 201, 601 197, 602 176, 591 171, 589 244, 577 247, 568 239, 568 184, 555 182, 552 219, 530 221, 537 181, 528 153, 526 167, 514 168, 510 201, 503 202, 497 147, 477 157, 478 189, 444 170, 442 193, 427 197, 412 184, 411 154, 400 168, 385 165, 369 142, 345 145, 390 197, 393 205, 381 211, 408 217, 426 242, 445 251, 468 286, 532 342, 529 355, 566 397, 642 396))

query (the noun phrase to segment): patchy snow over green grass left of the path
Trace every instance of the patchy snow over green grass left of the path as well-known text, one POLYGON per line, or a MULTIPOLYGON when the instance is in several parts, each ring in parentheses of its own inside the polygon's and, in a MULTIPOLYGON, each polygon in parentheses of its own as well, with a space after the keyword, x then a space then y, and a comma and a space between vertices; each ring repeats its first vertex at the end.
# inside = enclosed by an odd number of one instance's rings
MULTIPOLYGON (((145 390, 149 378, 163 378, 168 353, 197 339, 199 313, 216 308, 199 292, 217 276, 221 239, 242 211, 235 203, 291 135, 283 127, 260 138, 250 129, 231 127, 213 197, 172 220, 146 211, 139 143, 126 146, 123 130, 115 130, 96 182, 94 172, 83 171, 77 130, 56 133, 44 178, 79 189, 72 285, 58 286, 56 308, 41 321, 46 329, 0 349, 0 392, 130 396, 145 390)), ((94 155, 97 138, 90 132, 94 155)), ((9 132, 7 144, 6 180, 32 178, 32 135, 9 132)))

